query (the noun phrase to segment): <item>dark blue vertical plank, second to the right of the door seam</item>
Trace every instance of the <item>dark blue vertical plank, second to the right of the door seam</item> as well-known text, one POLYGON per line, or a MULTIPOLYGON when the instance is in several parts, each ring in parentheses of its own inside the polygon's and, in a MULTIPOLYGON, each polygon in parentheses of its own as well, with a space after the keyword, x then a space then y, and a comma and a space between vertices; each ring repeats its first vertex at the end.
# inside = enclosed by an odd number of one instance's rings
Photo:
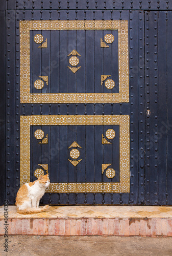
POLYGON ((167 166, 167 20, 166 13, 158 14, 158 204, 166 204, 166 166, 167 166), (162 31, 165 36, 162 36, 162 31))

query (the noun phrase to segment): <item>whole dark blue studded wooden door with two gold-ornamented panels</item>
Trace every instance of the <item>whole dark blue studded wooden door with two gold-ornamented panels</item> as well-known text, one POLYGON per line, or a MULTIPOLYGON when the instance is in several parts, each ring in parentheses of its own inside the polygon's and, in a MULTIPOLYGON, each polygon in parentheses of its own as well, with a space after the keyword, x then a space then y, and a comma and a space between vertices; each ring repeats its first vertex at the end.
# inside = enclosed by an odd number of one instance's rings
POLYGON ((172 204, 172 6, 119 2, 4 1, 10 204, 172 204))

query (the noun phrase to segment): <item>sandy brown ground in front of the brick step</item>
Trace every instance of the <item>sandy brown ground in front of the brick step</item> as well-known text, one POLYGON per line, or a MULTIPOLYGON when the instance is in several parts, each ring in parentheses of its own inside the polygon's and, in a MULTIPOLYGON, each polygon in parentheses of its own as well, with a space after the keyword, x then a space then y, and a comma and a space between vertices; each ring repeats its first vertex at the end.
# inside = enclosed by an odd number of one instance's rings
POLYGON ((172 255, 172 238, 9 236, 0 237, 0 255, 130 256, 172 255))

